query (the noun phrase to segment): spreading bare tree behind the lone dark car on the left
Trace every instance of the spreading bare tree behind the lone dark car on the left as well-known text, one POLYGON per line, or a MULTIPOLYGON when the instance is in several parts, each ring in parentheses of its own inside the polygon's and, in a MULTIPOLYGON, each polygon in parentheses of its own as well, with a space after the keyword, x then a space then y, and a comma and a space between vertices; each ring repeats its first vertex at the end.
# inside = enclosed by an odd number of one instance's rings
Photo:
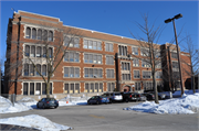
MULTIPOLYGON (((73 28, 65 28, 65 30, 57 29, 56 31, 46 33, 48 25, 41 25, 40 34, 38 35, 38 41, 34 43, 40 44, 43 47, 43 54, 42 56, 35 56, 35 47, 34 51, 30 51, 30 48, 23 48, 20 46, 19 43, 17 43, 18 46, 18 54, 19 59, 15 61, 15 63, 9 63, 9 68, 7 68, 7 75, 9 78, 14 77, 11 76, 12 73, 10 73, 11 68, 17 69, 18 72, 15 74, 15 78, 19 78, 22 76, 22 74, 25 74, 25 72, 29 70, 29 67, 31 69, 31 73, 29 75, 33 75, 34 73, 36 76, 40 76, 43 81, 46 85, 46 97, 50 98, 50 83, 51 78, 53 77, 55 70, 57 69, 59 65, 62 63, 64 56, 66 55, 66 51, 71 47, 71 45, 80 46, 80 37, 81 33, 80 31, 73 29, 73 28), (34 56, 31 56, 30 52, 34 52, 34 56), (20 58, 21 57, 21 58, 20 58), (40 63, 45 63, 45 73, 41 72, 40 63), (28 66, 28 68, 25 67, 28 66)), ((11 33, 11 32, 10 32, 11 33)), ((11 35, 11 34, 9 34, 11 35)), ((27 35, 27 34, 25 34, 27 35)), ((35 35, 35 34, 28 34, 29 35, 35 35)), ((36 36, 34 36, 36 37, 36 36)), ((34 45, 33 45, 34 46, 34 45)), ((17 53, 10 52, 7 55, 9 55, 8 58, 12 58, 13 55, 17 53)), ((8 61, 8 59, 7 59, 8 61)), ((11 59, 9 59, 12 62, 11 59)), ((31 79, 31 77, 25 77, 28 79, 31 79)), ((17 80, 15 80, 17 83, 17 80)))

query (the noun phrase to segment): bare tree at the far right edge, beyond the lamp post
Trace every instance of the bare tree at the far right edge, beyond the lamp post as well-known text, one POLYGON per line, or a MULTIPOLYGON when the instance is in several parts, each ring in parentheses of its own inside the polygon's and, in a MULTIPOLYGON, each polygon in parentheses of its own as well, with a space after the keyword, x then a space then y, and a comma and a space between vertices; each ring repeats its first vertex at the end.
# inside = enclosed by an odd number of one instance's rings
POLYGON ((184 68, 184 70, 191 77, 191 89, 193 90, 193 94, 196 92, 196 85, 195 85, 195 76, 199 72, 199 58, 196 45, 193 45, 191 36, 189 34, 186 35, 185 39, 185 45, 181 45, 187 53, 189 53, 189 59, 190 64, 181 58, 181 62, 188 66, 188 68, 184 68), (190 72, 191 70, 191 72, 190 72))

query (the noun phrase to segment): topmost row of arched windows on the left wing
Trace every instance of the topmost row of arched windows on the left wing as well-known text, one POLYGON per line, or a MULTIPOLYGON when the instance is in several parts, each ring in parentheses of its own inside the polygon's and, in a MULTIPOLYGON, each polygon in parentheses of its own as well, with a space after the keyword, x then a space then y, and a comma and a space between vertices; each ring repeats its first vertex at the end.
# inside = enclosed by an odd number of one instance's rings
POLYGON ((28 26, 25 29, 25 39, 53 41, 53 32, 28 26))

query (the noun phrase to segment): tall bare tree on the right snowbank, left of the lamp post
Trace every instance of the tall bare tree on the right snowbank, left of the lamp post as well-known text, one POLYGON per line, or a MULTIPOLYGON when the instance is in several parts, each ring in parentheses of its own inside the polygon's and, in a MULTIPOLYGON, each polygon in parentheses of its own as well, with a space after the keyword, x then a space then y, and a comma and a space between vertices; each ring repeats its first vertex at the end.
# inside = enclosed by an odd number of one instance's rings
MULTIPOLYGON (((144 19, 144 24, 136 22, 136 25, 145 34, 146 39, 143 36, 135 36, 134 33, 132 32, 130 34, 133 35, 134 39, 138 40, 137 42, 140 45, 140 53, 143 57, 138 57, 135 54, 132 55, 138 59, 142 59, 142 62, 145 63, 144 66, 151 69, 151 74, 149 75, 148 78, 153 78, 155 102, 159 103, 157 85, 156 85, 156 72, 163 70, 164 68, 166 68, 166 66, 168 66, 167 64, 163 64, 164 63, 163 61, 166 61, 166 58, 164 57, 167 56, 166 53, 168 52, 169 47, 163 50, 160 48, 160 45, 156 44, 159 41, 164 26, 155 28, 155 23, 153 23, 153 25, 150 26, 148 22, 148 14, 144 14, 142 17, 144 19)), ((171 46, 171 44, 168 44, 168 46, 171 46)), ((175 48, 176 47, 172 47, 171 50, 175 48)), ((168 72, 168 69, 166 69, 166 72, 168 72)))

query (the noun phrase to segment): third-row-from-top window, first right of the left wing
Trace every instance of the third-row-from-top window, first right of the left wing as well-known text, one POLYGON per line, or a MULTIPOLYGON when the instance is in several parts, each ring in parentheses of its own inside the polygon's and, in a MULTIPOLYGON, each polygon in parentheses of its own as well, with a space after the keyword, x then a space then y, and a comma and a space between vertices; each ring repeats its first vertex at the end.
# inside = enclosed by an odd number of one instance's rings
POLYGON ((78 78, 80 68, 78 67, 64 67, 64 77, 78 78))

